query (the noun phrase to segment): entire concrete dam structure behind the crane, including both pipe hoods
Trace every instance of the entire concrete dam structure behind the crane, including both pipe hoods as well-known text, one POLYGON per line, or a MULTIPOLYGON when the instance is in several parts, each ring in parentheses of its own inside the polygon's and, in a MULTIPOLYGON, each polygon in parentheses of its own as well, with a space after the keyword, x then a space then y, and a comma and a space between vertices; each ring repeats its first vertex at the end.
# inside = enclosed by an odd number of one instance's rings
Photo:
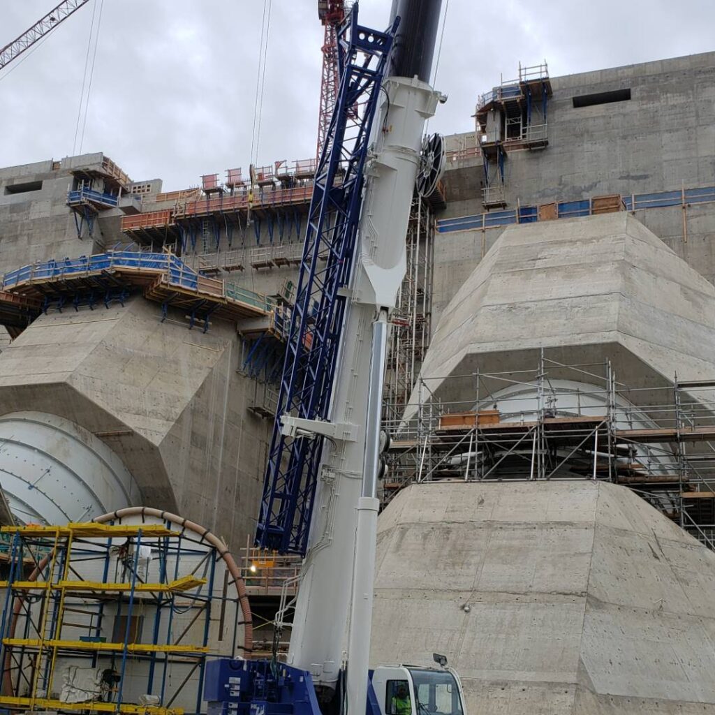
MULTIPOLYGON (((468 715, 715 713, 714 65, 520 66, 413 199, 371 657, 446 654, 468 715)), ((300 560, 252 539, 315 168, 176 191, 103 153, 0 169, 2 520, 177 514, 155 551, 182 520, 207 528, 240 562, 252 653, 280 658, 300 560)), ((205 554, 184 546, 188 574, 205 554)), ((224 571, 172 581, 215 600, 197 659, 245 605, 224 571)), ((114 631, 148 640, 126 616, 114 631)))

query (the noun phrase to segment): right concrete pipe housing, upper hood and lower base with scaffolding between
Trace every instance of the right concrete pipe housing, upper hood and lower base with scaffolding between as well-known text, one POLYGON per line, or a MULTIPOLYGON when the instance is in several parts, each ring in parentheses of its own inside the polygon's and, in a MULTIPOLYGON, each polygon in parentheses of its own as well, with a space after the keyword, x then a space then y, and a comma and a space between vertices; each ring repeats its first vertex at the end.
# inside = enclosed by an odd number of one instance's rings
POLYGON ((682 511, 674 492, 709 463, 638 443, 672 439, 676 373, 700 394, 683 393, 691 428, 713 425, 714 299, 624 212, 503 232, 398 431, 401 448, 424 435, 423 483, 380 522, 375 662, 453 654, 476 713, 715 711, 715 554, 654 508, 682 511))

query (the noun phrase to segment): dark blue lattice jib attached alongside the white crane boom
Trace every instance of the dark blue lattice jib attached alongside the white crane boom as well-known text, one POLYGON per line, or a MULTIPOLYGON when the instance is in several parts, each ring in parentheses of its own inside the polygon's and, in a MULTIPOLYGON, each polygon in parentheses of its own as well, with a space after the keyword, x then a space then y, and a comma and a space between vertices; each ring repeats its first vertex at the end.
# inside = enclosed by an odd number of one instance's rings
POLYGON ((268 455, 256 544, 307 551, 323 438, 290 438, 281 418, 327 420, 363 202, 365 159, 398 20, 384 32, 358 25, 358 6, 337 31, 340 89, 318 163, 268 455), (356 116, 355 107, 363 109, 356 116), (324 263, 322 261, 325 261, 324 263))

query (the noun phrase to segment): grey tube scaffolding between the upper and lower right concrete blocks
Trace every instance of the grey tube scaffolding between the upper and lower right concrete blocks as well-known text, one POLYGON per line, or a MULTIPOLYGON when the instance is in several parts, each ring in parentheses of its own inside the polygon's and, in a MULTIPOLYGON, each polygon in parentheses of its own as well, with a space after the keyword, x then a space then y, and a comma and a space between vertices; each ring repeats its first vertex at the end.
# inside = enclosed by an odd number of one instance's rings
POLYGON ((715 380, 629 387, 610 363, 420 378, 392 435, 388 503, 428 480, 625 485, 715 548, 715 380))

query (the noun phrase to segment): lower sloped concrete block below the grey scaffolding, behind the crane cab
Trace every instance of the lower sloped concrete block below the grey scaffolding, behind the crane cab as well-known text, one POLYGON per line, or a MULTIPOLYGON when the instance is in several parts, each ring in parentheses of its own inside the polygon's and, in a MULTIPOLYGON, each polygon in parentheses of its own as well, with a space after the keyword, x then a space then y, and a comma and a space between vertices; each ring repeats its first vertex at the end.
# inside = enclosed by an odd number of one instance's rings
POLYGON ((469 715, 715 714, 715 554, 626 488, 425 483, 380 516, 373 665, 469 715))

